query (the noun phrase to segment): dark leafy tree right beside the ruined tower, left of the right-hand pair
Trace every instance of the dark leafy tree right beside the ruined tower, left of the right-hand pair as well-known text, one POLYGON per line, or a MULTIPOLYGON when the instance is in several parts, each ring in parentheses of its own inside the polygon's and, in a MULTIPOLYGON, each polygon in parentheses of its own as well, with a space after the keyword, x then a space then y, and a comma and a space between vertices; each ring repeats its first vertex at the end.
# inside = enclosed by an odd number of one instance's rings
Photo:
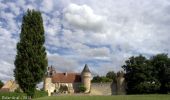
POLYGON ((144 56, 130 57, 122 68, 126 71, 127 93, 154 93, 159 90, 159 82, 152 76, 152 66, 144 56))

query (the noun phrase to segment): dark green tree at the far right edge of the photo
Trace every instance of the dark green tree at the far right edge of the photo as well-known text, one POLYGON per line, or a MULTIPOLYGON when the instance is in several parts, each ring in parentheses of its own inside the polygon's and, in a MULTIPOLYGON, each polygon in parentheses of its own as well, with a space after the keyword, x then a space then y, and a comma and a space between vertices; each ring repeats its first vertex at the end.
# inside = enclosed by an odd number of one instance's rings
POLYGON ((168 58, 168 54, 157 54, 150 61, 153 66, 153 76, 161 83, 159 92, 170 92, 170 58, 168 58))

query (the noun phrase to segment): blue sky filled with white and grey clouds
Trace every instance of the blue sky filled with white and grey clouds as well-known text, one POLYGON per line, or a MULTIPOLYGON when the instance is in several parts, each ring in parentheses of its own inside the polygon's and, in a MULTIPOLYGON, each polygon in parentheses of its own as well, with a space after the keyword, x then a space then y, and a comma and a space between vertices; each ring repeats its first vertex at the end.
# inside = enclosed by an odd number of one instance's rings
POLYGON ((27 9, 42 13, 48 65, 93 75, 123 70, 131 56, 170 54, 170 0, 0 0, 0 80, 14 79, 27 9))

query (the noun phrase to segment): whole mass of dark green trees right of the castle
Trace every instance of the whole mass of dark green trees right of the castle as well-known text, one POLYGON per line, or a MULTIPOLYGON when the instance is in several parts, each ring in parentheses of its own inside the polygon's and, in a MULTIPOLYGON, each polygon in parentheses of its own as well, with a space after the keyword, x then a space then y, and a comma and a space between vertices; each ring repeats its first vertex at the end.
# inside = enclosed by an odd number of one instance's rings
POLYGON ((167 54, 158 54, 150 59, 139 55, 130 57, 122 68, 128 94, 168 93, 170 90, 170 59, 167 54))

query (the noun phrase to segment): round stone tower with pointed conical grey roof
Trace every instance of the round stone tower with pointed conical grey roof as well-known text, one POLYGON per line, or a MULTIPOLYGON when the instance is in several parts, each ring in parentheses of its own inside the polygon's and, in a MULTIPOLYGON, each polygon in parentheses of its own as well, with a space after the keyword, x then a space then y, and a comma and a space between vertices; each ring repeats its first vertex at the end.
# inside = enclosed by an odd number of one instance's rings
POLYGON ((90 88, 91 88, 91 72, 90 72, 87 64, 85 64, 84 69, 81 72, 81 79, 82 79, 83 85, 86 88, 85 93, 89 93, 90 88))

